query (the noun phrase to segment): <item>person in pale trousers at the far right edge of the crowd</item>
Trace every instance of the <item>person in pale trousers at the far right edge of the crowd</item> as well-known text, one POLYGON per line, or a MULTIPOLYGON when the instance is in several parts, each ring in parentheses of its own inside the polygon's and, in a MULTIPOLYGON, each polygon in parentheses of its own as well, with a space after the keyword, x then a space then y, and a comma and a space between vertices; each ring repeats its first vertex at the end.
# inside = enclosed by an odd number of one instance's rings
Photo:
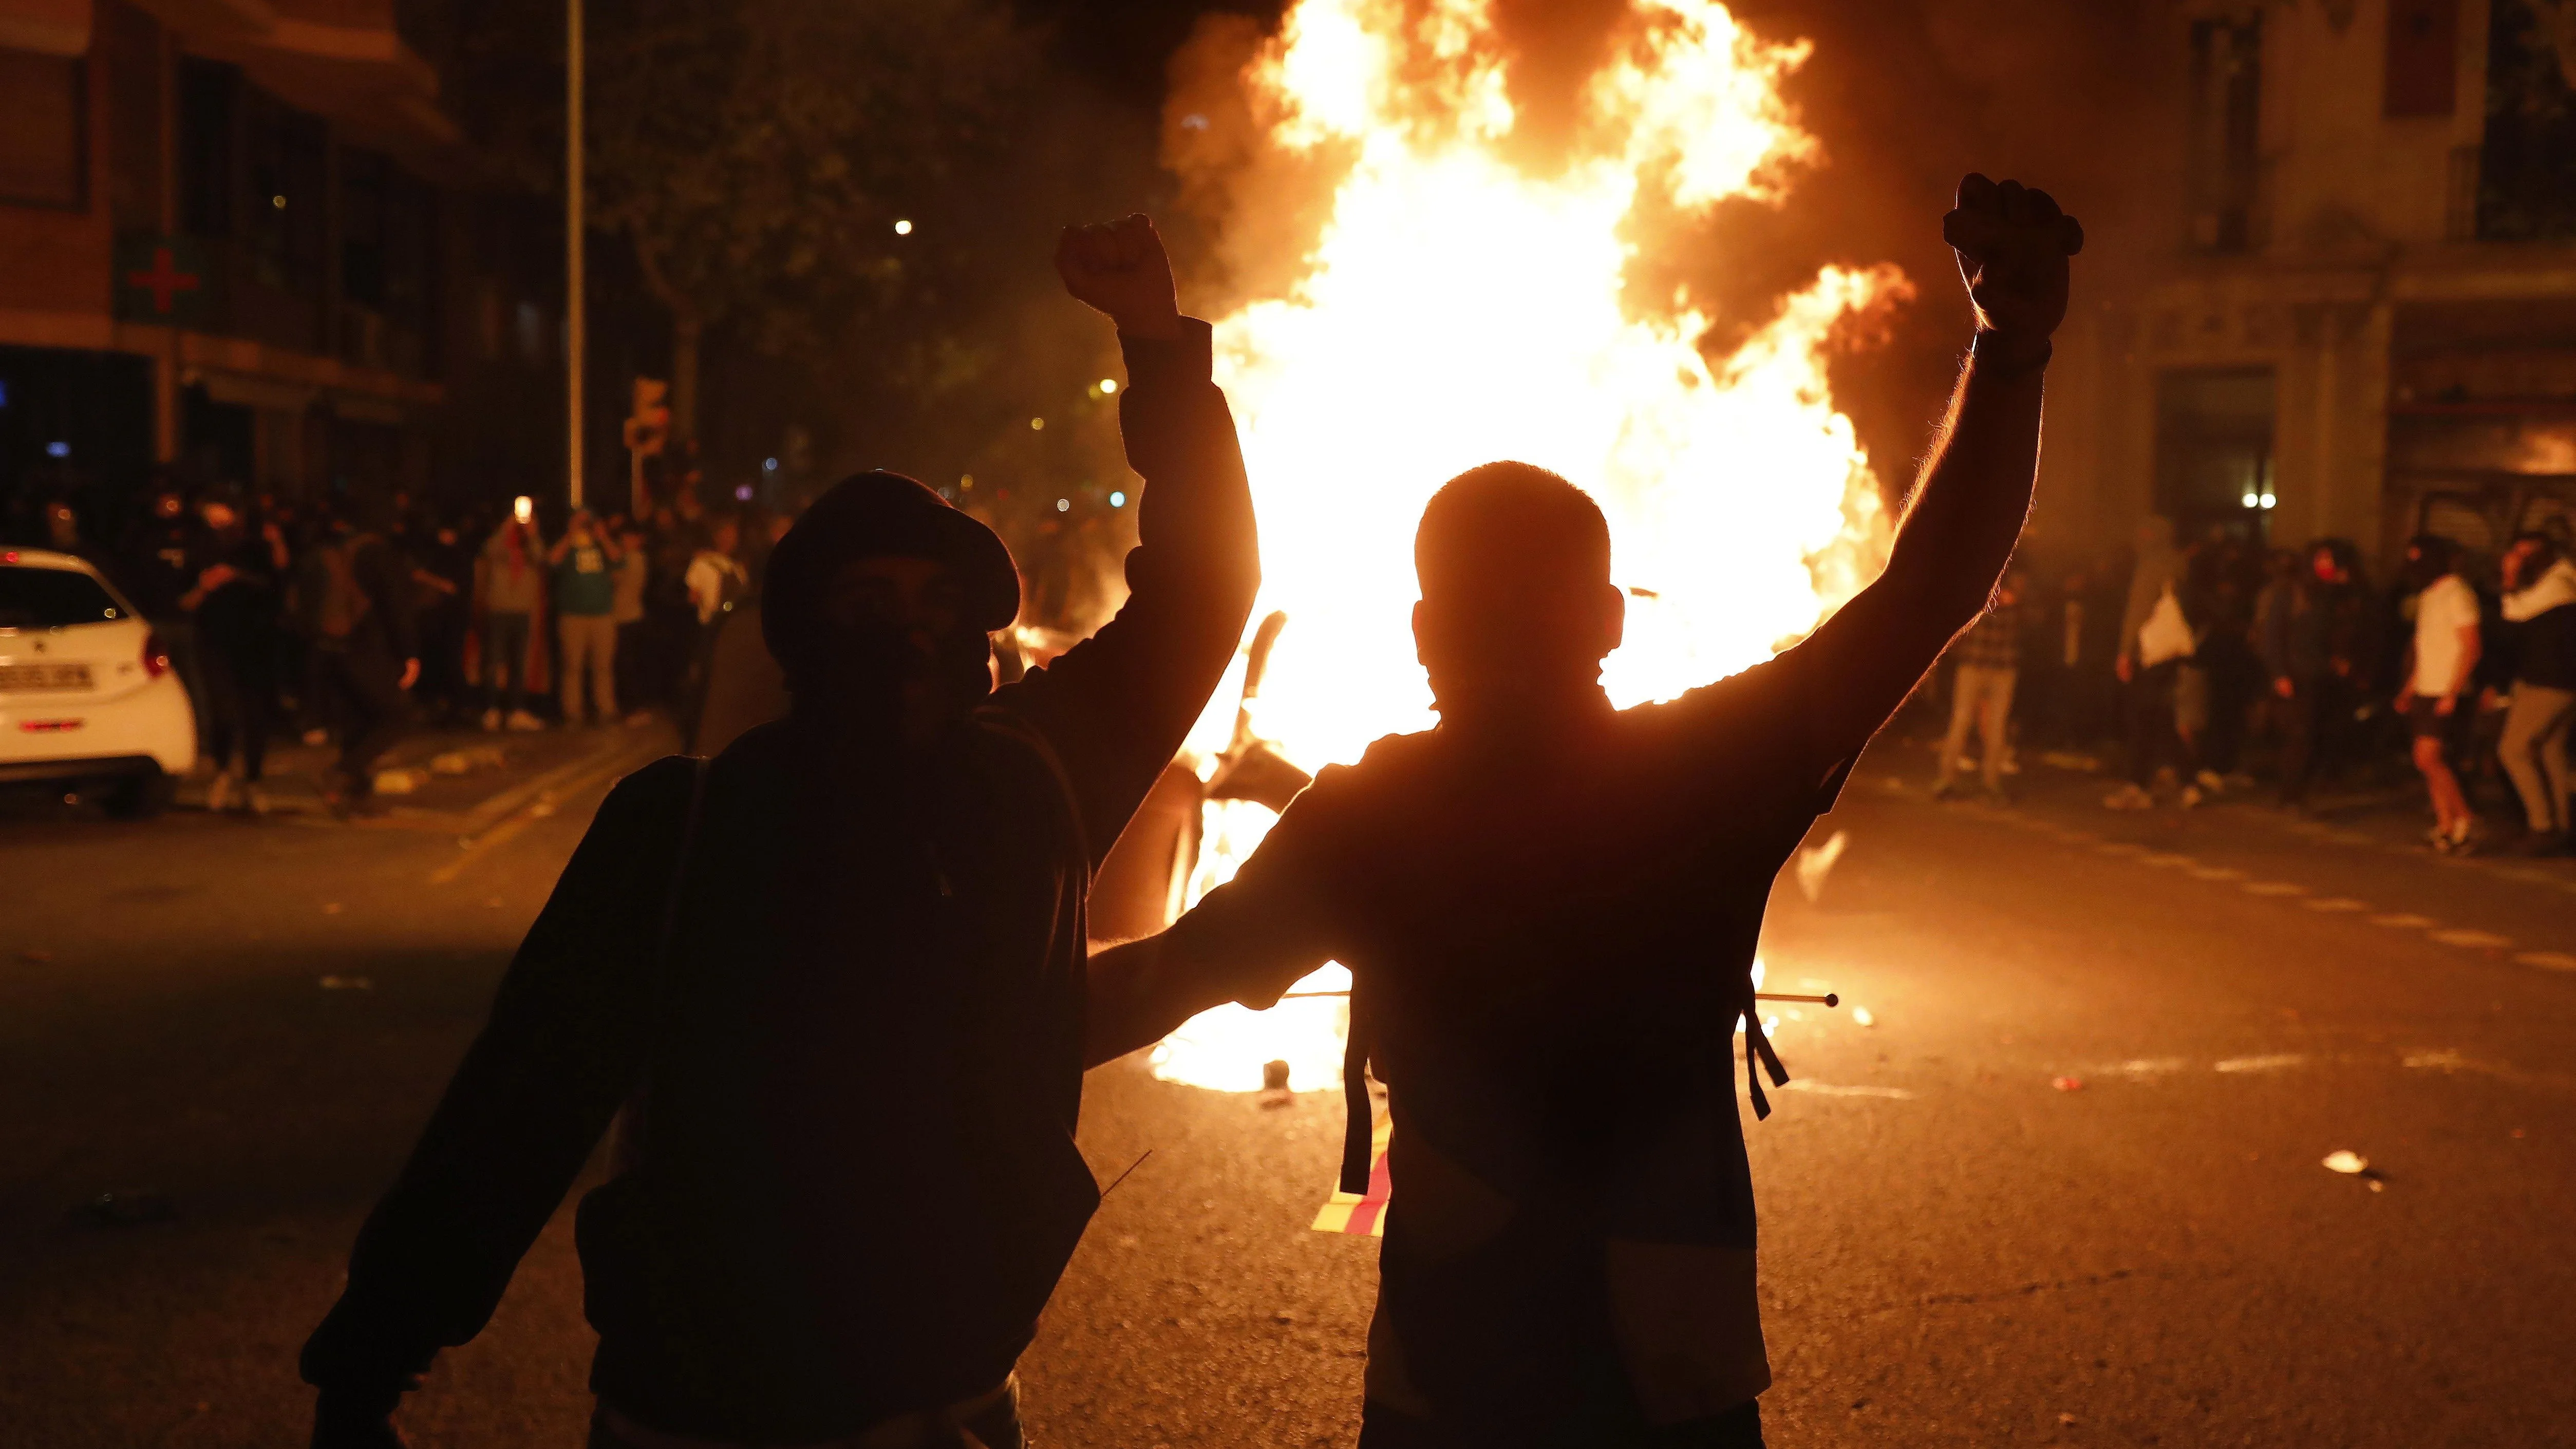
POLYGON ((2576 558, 2524 533, 2504 551, 2514 700, 2496 754, 2522 798, 2522 854, 2571 854, 2568 726, 2576 721, 2576 558))

